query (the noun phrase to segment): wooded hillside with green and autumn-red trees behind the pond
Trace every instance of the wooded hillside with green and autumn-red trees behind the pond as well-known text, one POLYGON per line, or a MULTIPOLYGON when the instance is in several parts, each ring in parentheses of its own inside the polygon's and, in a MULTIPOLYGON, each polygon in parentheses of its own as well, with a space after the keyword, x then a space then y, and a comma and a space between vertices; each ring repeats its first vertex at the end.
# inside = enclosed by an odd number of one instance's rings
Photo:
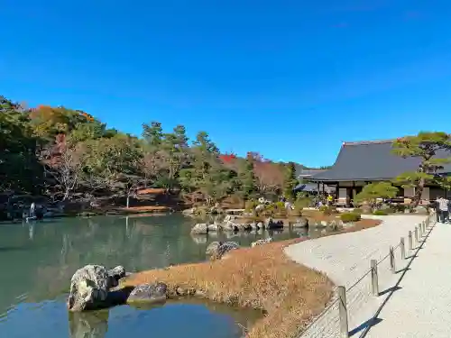
POLYGON ((166 132, 143 123, 141 137, 107 128, 79 110, 26 108, 0 96, 0 191, 23 191, 54 201, 133 196, 161 187, 207 205, 285 193, 295 186, 295 164, 257 152, 221 153, 207 132, 189 140, 183 125, 166 132))

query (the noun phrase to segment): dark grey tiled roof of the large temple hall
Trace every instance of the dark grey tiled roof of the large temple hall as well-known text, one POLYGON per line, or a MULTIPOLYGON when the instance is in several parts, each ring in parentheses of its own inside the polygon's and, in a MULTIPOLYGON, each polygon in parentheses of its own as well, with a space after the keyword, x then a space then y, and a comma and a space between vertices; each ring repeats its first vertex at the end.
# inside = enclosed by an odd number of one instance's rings
MULTIPOLYGON (((392 140, 344 142, 334 166, 313 175, 311 179, 319 181, 384 180, 396 178, 403 172, 419 168, 419 159, 403 159, 393 154, 392 143, 392 140)), ((437 158, 448 157, 451 157, 448 151, 437 154, 437 158)), ((451 164, 446 164, 440 171, 451 172, 451 164)))

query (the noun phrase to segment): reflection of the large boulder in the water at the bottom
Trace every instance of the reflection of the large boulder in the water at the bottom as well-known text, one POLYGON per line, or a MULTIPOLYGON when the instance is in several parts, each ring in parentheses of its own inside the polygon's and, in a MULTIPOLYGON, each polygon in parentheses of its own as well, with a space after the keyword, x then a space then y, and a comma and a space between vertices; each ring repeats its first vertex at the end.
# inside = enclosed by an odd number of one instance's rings
POLYGON ((70 338, 105 338, 108 331, 107 310, 96 312, 69 312, 70 338))

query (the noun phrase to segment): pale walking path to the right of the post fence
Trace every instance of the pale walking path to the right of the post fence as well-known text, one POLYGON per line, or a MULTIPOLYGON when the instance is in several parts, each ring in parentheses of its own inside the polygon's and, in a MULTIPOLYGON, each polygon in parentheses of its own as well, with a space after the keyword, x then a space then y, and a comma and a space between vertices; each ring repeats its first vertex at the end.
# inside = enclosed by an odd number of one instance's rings
POLYGON ((451 225, 436 224, 366 338, 451 336, 451 225))

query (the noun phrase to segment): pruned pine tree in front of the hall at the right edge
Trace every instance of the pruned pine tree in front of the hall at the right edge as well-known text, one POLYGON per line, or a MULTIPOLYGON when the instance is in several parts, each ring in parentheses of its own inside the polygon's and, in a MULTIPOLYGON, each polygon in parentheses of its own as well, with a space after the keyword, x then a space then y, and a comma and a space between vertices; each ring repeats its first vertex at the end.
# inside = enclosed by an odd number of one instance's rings
POLYGON ((446 132, 419 132, 418 135, 405 136, 393 143, 393 153, 403 158, 419 159, 419 168, 400 174, 395 182, 402 187, 414 187, 415 195, 410 207, 419 205, 427 183, 443 184, 437 177, 437 170, 449 163, 449 158, 438 158, 437 153, 451 148, 451 139, 446 132))

